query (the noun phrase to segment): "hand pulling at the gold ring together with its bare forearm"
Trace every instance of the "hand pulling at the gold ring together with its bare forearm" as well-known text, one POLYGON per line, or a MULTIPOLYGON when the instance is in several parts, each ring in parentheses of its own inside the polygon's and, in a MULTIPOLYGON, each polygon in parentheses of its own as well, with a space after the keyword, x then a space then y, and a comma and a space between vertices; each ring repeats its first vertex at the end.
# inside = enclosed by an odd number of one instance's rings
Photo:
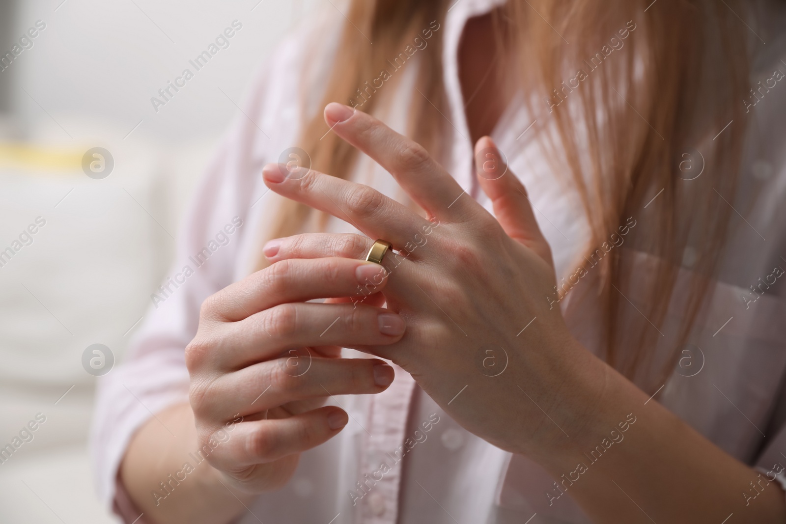
POLYGON ((380 307, 379 294, 350 303, 365 280, 384 289, 380 272, 365 260, 285 260, 205 300, 185 348, 189 405, 145 423, 120 468, 145 519, 230 522, 259 493, 284 486, 299 453, 343 429, 347 413, 324 405, 327 398, 387 389, 390 365, 340 357, 341 347, 368 352, 398 342, 406 329, 399 315, 380 307), (200 450, 206 460, 197 462, 200 450), (193 471, 182 472, 185 462, 193 471))

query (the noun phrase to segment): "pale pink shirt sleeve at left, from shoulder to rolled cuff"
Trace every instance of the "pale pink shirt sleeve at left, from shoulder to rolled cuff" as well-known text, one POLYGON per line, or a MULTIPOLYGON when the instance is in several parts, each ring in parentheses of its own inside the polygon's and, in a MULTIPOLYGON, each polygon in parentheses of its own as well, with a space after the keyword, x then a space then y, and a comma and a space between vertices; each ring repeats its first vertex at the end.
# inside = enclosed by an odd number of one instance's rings
POLYGON ((314 63, 332 64, 327 57, 335 53, 339 33, 325 29, 329 20, 304 27, 281 41, 251 82, 246 103, 196 189, 178 232, 174 263, 151 295, 123 364, 98 380, 90 429, 94 477, 102 503, 125 522, 139 515, 117 481, 127 445, 154 413, 188 401, 185 346, 196 334, 202 302, 252 267, 247 259, 259 251, 250 248, 259 240, 256 227, 265 227, 256 222, 277 208, 270 198, 276 195, 262 198, 262 167, 277 161, 299 135, 303 96, 321 99, 314 86, 325 82, 309 80, 314 71, 318 77, 328 74, 314 63), (314 49, 325 60, 316 60, 314 49))

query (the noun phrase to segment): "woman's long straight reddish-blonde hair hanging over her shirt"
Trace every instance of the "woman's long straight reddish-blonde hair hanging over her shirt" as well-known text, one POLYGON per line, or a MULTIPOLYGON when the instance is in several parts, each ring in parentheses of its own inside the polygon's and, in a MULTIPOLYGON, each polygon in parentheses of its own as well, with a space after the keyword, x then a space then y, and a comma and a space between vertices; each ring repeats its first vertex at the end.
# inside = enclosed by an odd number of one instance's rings
MULTIPOLYGON (((443 24, 448 7, 438 0, 351 0, 346 12, 350 23, 343 27, 319 108, 330 101, 357 100, 364 82, 386 69, 386 61, 424 27, 432 20, 443 24)), ((538 138, 549 158, 560 159, 554 160, 555 173, 569 173, 578 192, 591 232, 586 249, 593 251, 608 241, 626 218, 646 213, 648 235, 637 236, 635 247, 656 255, 659 262, 642 312, 652 325, 644 324, 633 350, 619 348, 620 311, 635 277, 628 250, 612 250, 601 260, 598 292, 606 361, 648 390, 662 384, 674 368, 711 290, 725 244, 731 210, 715 192, 726 200, 735 193, 745 130, 741 101, 748 90, 748 46, 737 13, 745 13, 741 0, 508 0, 492 12, 498 49, 518 60, 511 71, 527 95, 530 112, 538 115, 546 108, 553 119, 548 128, 536 127, 538 138), (618 49, 612 38, 622 39, 621 28, 628 31, 618 49), (604 60, 578 88, 571 84, 565 90, 563 82, 577 69, 593 65, 584 60, 605 56, 612 47, 614 60, 604 60), (554 104, 568 94, 570 104, 554 104), (704 176, 687 185, 679 176, 682 154, 698 148, 703 137, 730 120, 735 125, 707 145, 711 149, 703 154, 704 176), (657 205, 642 211, 656 194, 657 205), (689 199, 696 195, 704 200, 691 205, 689 199), (678 269, 689 244, 698 258, 689 298, 679 305, 683 321, 678 340, 670 344, 666 365, 653 376, 648 364, 659 337, 653 326, 662 326, 667 309, 674 307, 678 269)), ((440 113, 446 112, 442 32, 414 66, 416 86, 424 96, 411 99, 409 128, 410 137, 438 157, 443 151, 440 113)), ((384 100, 371 97, 362 110, 374 112, 384 100)), ((523 128, 528 123, 518 124, 523 128)), ((310 154, 314 169, 346 178, 356 152, 336 134, 320 139, 326 130, 321 111, 309 115, 300 146, 310 154)), ((287 201, 271 238, 319 229, 324 221, 322 214, 287 201)))

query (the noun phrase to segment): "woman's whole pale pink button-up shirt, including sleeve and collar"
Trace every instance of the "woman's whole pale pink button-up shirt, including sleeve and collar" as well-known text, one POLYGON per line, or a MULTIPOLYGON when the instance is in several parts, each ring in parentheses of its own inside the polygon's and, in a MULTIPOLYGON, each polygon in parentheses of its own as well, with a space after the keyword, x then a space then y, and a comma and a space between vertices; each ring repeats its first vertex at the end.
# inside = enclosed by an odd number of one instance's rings
MULTIPOLYGON (((472 178, 472 144, 467 138, 457 75, 457 46, 465 21, 498 3, 459 0, 432 37, 446 42, 443 59, 450 105, 446 118, 451 123, 446 132, 452 134, 452 147, 443 163, 468 194, 487 208, 490 204, 472 178)), ((187 401, 189 377, 183 350, 196 332, 201 302, 246 276, 259 257, 280 201, 267 192, 260 170, 264 163, 277 161, 296 140, 303 112, 297 94, 305 86, 314 101, 320 98, 319 86, 324 85, 326 68, 335 52, 336 27, 343 23, 338 13, 333 14, 324 25, 297 31, 283 42, 254 82, 245 115, 238 118, 220 148, 180 232, 177 260, 169 274, 178 287, 169 284, 166 299, 156 300, 151 307, 123 365, 101 380, 92 431, 97 484, 102 500, 114 504, 126 522, 137 519, 139 513, 122 486, 116 484, 119 461, 131 435, 151 412, 187 401), (314 37, 319 38, 318 45, 314 37), (238 227, 238 223, 242 225, 238 227), (228 243, 220 236, 211 244, 219 233, 230 229, 228 243), (196 258, 205 247, 211 252, 208 262, 196 267, 189 257, 196 258), (185 277, 184 266, 194 273, 185 277)), ((786 26, 773 23, 773 27, 780 27, 780 33, 768 33, 769 54, 758 57, 753 83, 771 77, 774 69, 786 72, 786 64, 780 61, 786 57, 782 31, 786 26)), ((417 53, 413 60, 417 60, 417 53)), ((404 130, 400 115, 406 114, 409 97, 421 96, 411 89, 414 70, 405 66, 395 71, 402 83, 396 90, 393 111, 382 115, 399 131, 404 130)), ((385 89, 392 88, 381 88, 385 89)), ((770 470, 773 464, 786 464, 784 279, 749 309, 741 297, 759 277, 773 273, 773 267, 786 269, 782 258, 786 257, 786 211, 782 206, 786 201, 786 82, 778 82, 753 111, 755 124, 740 174, 741 187, 764 190, 755 194, 744 190, 744 196, 753 195, 755 200, 735 206, 745 220, 735 222, 711 311, 693 339, 700 350, 685 354, 687 360, 681 361, 664 385, 659 401, 727 453, 770 470)), ((493 136, 508 155, 510 168, 529 190, 536 218, 553 247, 558 276, 567 277, 575 271, 575 258, 584 247, 586 221, 578 213, 571 189, 549 173, 534 140, 549 123, 539 122, 527 130, 533 120, 516 100, 493 136)), ((354 179, 387 195, 401 196, 391 176, 369 159, 362 159, 354 179)), ((652 203, 656 205, 657 200, 652 203)), ((647 219, 648 211, 642 209, 635 217, 636 227, 645 229, 647 219)), ((334 219, 329 230, 349 232, 354 228, 334 219)), ((647 255, 638 256, 644 278, 652 261, 647 255)), ((685 257, 681 278, 689 274, 691 258, 690 254, 685 257)), ((560 306, 575 336, 589 350, 600 353, 597 322, 593 320, 597 310, 593 303, 595 277, 583 278, 560 306)), ((634 291, 627 299, 642 309, 641 295, 634 291)), ((634 307, 628 313, 631 326, 645 322, 634 307)), ((663 328, 664 340, 673 335, 674 320, 663 328)), ((347 427, 330 442, 304 453, 292 481, 277 493, 260 496, 250 507, 254 515, 246 512, 238 522, 520 524, 535 513, 538 516, 532 522, 588 522, 569 497, 549 504, 546 493, 553 488, 553 479, 542 468, 463 430, 400 368, 396 368, 395 382, 383 394, 341 397, 336 402, 351 414, 347 427), (424 431, 426 427, 428 431, 424 431), (382 462, 390 471, 364 497, 353 497, 356 483, 365 482, 382 462)))

